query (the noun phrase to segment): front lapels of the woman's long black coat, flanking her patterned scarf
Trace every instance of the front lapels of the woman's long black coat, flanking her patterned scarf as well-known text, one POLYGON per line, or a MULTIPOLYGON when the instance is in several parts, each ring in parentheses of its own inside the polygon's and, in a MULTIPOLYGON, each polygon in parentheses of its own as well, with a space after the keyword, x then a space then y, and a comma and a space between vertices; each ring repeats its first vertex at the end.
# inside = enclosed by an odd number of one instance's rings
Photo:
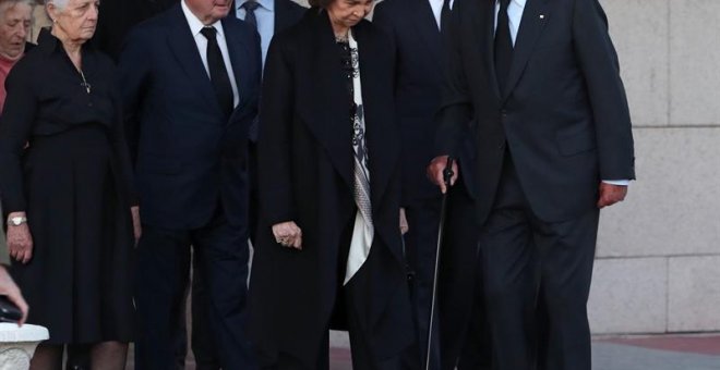
MULTIPOLYGON (((351 126, 349 116, 349 100, 347 94, 347 77, 340 66, 340 54, 335 42, 329 20, 325 11, 309 11, 303 22, 312 27, 312 40, 307 46, 314 61, 313 76, 315 77, 317 98, 313 103, 312 116, 308 125, 319 141, 329 153, 334 168, 340 174, 349 188, 352 188, 352 149, 351 126), (310 51, 312 50, 312 51, 310 51)), ((365 132, 368 147, 370 150, 370 178, 371 201, 373 210, 379 208, 387 185, 395 171, 394 163, 399 156, 398 146, 394 140, 397 135, 394 128, 383 127, 382 122, 388 120, 386 112, 380 107, 387 102, 379 101, 386 81, 373 78, 373 71, 382 70, 377 65, 376 55, 382 55, 386 50, 374 42, 369 22, 361 22, 352 27, 352 33, 358 41, 358 54, 360 59, 360 78, 362 84, 362 99, 365 114, 365 132)), ((392 118, 389 118, 392 121, 392 118)))

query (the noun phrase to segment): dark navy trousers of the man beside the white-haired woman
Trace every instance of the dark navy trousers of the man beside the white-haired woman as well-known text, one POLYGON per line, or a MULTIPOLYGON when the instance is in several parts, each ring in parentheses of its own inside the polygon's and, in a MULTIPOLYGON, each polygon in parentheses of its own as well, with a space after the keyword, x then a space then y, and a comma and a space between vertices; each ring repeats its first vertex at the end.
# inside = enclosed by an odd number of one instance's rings
MULTIPOLYGON (((220 208, 221 209, 221 208, 220 208)), ((170 231, 143 225, 137 246, 139 370, 175 369, 177 325, 189 283, 190 248, 207 293, 207 326, 224 369, 255 368, 245 333, 248 233, 228 224, 221 210, 206 226, 170 231)))

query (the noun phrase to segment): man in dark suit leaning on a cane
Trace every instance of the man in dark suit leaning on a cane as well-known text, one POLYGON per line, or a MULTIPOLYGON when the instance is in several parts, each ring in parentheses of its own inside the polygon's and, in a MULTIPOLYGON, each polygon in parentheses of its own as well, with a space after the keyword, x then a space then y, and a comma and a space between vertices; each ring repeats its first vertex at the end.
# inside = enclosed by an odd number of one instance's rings
POLYGON ((548 369, 590 369, 599 209, 623 200, 635 176, 605 14, 598 0, 457 0, 453 17, 429 175, 441 184, 446 156, 475 137, 475 164, 460 175, 476 178, 493 368, 544 358, 548 369), (540 356, 538 301, 549 318, 540 356))

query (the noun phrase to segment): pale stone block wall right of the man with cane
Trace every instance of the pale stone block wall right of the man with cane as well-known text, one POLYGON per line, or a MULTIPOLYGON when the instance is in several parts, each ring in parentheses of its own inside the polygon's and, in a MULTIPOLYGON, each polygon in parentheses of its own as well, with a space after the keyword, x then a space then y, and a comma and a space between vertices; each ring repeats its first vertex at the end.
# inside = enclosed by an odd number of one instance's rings
POLYGON ((595 333, 720 330, 720 1, 601 0, 637 182, 602 212, 595 333))

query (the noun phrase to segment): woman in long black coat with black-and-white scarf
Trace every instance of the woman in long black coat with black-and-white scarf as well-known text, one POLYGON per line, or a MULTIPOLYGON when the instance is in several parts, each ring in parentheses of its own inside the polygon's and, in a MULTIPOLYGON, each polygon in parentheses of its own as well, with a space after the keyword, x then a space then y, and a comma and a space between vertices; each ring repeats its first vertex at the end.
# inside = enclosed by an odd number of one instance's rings
POLYGON ((396 369, 413 331, 394 45, 363 20, 371 0, 313 5, 265 66, 252 332, 263 368, 326 369, 333 328, 355 369, 396 369))

